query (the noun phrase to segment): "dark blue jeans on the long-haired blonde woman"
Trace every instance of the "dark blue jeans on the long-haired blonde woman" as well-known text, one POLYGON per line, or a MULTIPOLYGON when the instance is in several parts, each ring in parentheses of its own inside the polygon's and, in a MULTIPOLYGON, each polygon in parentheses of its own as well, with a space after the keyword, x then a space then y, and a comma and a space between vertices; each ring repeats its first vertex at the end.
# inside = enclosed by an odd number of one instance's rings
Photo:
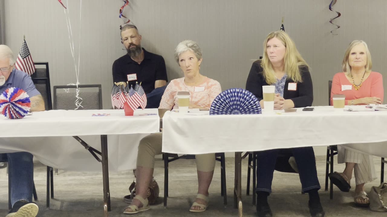
MULTIPOLYGON (((257 188, 256 191, 271 193, 271 183, 273 181, 273 172, 276 166, 278 152, 281 149, 260 151, 257 156, 257 188)), ((302 186, 302 192, 308 190, 319 190, 320 183, 317 178, 316 160, 313 147, 300 147, 290 149, 296 160, 298 174, 302 186)))

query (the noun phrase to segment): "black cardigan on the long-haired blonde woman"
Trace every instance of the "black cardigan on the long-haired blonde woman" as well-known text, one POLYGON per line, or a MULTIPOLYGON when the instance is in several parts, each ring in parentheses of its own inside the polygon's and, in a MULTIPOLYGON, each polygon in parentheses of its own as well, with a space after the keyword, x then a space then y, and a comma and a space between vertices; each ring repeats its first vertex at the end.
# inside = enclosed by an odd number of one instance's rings
MULTIPOLYGON (((302 83, 297 83, 297 90, 288 90, 288 84, 294 83, 294 81, 290 78, 286 80, 284 87, 284 99, 292 100, 295 108, 312 106, 313 102, 313 85, 308 67, 300 66, 300 72, 302 83)), ((265 81, 263 69, 260 66, 260 60, 257 60, 251 66, 250 73, 248 74, 246 90, 253 93, 260 101, 263 98, 262 86, 264 85, 269 84, 267 84, 265 81)))

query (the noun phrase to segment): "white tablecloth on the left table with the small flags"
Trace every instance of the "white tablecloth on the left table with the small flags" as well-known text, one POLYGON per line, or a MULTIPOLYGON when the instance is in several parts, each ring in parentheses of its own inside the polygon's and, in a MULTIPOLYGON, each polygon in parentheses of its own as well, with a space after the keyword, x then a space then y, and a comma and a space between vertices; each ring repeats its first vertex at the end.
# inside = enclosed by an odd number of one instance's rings
POLYGON ((139 109, 135 116, 123 110, 50 110, 20 120, 0 117, 0 125, 0 153, 27 151, 54 168, 100 171, 101 163, 72 136, 101 151, 100 135, 108 135, 109 170, 129 170, 140 139, 159 132, 159 116, 158 109, 139 109))

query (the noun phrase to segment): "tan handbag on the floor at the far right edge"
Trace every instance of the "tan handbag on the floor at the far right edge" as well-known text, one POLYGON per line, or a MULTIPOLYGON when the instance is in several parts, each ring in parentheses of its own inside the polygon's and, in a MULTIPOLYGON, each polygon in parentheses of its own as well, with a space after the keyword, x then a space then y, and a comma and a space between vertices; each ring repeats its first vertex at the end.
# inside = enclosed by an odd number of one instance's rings
POLYGON ((387 212, 387 183, 382 183, 379 186, 372 186, 368 198, 370 198, 370 210, 387 212))

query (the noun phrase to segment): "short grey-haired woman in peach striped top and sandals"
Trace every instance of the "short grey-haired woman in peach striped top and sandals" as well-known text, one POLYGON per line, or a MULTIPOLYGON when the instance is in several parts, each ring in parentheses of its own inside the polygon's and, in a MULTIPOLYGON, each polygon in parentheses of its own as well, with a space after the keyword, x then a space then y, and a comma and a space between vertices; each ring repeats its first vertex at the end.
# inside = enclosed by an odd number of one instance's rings
MULTIPOLYGON (((215 97, 221 93, 219 82, 200 74, 202 51, 190 40, 182 41, 175 49, 175 58, 184 73, 183 78, 172 80, 161 98, 160 107, 178 108, 177 92, 190 92, 190 108, 209 109, 215 97)), ((152 180, 154 156, 161 153, 162 133, 144 137, 137 154, 136 197, 124 213, 134 214, 149 209, 147 191, 152 180)), ((208 206, 208 188, 215 168, 215 154, 197 154, 198 194, 190 208, 191 212, 203 212, 208 206)))

